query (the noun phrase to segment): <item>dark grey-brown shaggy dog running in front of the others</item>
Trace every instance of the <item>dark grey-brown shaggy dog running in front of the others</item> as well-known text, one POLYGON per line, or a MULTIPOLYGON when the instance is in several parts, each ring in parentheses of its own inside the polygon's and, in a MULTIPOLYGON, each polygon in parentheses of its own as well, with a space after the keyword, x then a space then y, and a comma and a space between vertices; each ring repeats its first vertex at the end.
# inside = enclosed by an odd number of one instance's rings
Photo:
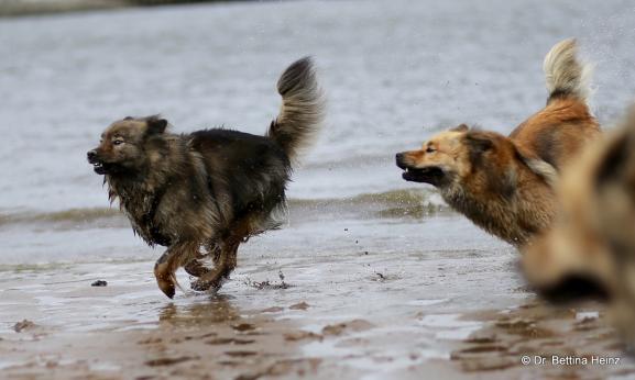
POLYGON ((240 243, 280 226, 292 168, 320 128, 325 98, 309 57, 282 74, 277 91, 282 108, 265 136, 226 128, 179 135, 158 116, 125 118, 88 152, 133 231, 167 247, 154 267, 167 297, 179 267, 197 278, 191 289, 219 289, 240 243))

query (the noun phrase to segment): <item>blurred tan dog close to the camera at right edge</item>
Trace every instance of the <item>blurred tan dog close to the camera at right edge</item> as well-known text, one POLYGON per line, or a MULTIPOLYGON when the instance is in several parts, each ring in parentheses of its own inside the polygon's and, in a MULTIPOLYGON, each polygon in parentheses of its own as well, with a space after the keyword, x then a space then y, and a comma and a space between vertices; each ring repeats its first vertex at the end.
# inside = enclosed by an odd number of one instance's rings
POLYGON ((552 227, 524 249, 525 277, 552 301, 610 301, 635 344, 635 107, 565 170, 558 197, 552 227))

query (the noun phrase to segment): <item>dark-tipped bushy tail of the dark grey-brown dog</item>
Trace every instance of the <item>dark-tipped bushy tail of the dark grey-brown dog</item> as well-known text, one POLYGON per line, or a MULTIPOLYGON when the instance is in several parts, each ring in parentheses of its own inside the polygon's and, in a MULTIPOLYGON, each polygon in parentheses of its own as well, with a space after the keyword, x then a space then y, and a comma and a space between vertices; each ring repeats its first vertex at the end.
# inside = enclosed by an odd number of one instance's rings
POLYGON ((284 70, 277 81, 277 92, 282 96, 282 108, 267 136, 295 161, 310 146, 324 120, 325 99, 310 57, 284 70))

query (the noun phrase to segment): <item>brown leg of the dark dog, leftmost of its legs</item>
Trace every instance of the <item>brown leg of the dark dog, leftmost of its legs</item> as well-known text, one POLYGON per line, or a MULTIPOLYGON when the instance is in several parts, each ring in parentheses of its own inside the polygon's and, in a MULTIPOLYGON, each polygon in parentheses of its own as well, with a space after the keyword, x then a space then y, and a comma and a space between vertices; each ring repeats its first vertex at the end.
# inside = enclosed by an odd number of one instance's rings
POLYGON ((176 244, 167 248, 154 264, 154 277, 158 289, 168 298, 176 292, 176 270, 184 264, 191 261, 198 255, 199 244, 176 244))

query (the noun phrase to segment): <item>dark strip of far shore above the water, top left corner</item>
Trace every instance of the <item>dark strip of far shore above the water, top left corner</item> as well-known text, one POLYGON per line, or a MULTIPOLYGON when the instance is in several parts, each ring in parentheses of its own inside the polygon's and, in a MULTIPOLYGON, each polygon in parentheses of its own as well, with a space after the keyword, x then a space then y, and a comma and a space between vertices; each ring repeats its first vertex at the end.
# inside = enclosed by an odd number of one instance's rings
POLYGON ((234 2, 244 0, 57 0, 57 1, 9 1, 0 3, 0 18, 45 15, 95 10, 193 4, 204 2, 234 2))

